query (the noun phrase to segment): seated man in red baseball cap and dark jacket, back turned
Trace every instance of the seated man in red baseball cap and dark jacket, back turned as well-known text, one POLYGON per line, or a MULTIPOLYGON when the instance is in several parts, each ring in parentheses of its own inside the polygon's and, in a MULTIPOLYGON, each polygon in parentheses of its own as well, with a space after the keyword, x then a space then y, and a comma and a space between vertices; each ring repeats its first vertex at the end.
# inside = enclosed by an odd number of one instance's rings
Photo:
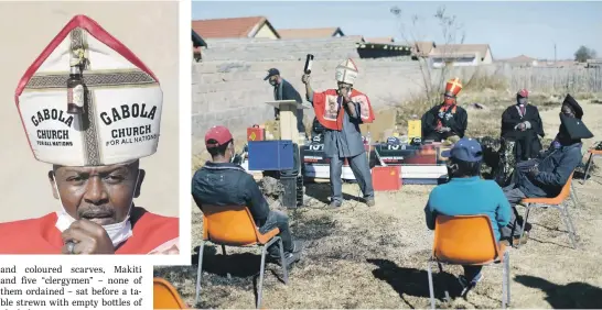
MULTIPOLYGON (((198 169, 192 178, 192 197, 203 211, 209 206, 246 206, 261 233, 278 228, 284 246, 284 263, 292 264, 301 258, 301 242, 292 240, 287 214, 270 210, 266 198, 251 175, 233 164, 234 139, 225 126, 213 126, 205 134, 205 145, 212 160, 198 169)), ((268 248, 272 262, 279 263, 278 243, 268 248)))

